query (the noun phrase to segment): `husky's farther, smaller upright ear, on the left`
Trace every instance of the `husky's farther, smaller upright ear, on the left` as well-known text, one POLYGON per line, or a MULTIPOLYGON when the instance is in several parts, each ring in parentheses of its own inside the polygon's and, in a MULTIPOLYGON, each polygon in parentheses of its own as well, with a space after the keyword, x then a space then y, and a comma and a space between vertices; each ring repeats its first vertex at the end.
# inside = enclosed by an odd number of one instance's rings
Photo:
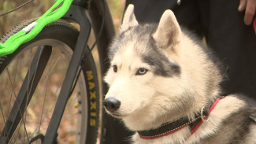
POLYGON ((130 27, 135 27, 138 24, 139 23, 134 15, 134 6, 130 4, 124 13, 124 19, 121 24, 120 32, 126 31, 130 27))

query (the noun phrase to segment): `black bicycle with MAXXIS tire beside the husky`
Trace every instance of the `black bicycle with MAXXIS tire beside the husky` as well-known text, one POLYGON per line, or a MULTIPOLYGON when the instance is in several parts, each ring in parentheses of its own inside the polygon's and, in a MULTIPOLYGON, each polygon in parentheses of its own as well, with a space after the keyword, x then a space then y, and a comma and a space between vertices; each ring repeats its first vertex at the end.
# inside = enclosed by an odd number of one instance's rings
MULTIPOLYGON (((35 20, 13 28, 1 42, 35 20)), ((129 132, 102 112, 101 106, 107 90, 101 76, 109 67, 106 46, 114 33, 105 0, 74 0, 61 20, 46 25, 12 54, 0 57, 0 143, 125 143, 129 132), (87 46, 91 28, 99 71, 92 48, 87 46), (70 119, 76 124, 65 127, 70 119), (69 132, 61 133, 64 128, 69 132)))

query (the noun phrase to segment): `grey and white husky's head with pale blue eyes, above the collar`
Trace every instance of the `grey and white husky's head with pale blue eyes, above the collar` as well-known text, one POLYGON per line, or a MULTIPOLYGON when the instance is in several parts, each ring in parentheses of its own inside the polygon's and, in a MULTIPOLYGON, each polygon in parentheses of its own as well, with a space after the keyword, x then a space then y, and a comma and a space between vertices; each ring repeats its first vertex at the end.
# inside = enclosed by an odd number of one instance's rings
POLYGON ((109 47, 104 105, 138 131, 197 113, 218 93, 217 66, 180 26, 171 10, 159 24, 139 24, 128 6, 109 47))

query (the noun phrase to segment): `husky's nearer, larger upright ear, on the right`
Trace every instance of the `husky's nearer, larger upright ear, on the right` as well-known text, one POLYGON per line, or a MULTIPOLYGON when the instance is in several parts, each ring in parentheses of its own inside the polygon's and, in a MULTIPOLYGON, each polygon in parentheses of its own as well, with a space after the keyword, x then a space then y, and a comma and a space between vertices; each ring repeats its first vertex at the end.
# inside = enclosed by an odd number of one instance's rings
POLYGON ((180 26, 173 11, 165 10, 158 24, 158 29, 152 36, 161 48, 166 48, 180 41, 180 33, 180 26))

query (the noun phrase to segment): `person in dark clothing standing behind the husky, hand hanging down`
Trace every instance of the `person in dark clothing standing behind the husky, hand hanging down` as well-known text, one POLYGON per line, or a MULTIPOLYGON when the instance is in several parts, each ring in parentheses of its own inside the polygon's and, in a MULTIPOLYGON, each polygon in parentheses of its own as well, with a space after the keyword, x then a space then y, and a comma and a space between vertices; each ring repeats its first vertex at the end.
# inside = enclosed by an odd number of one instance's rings
POLYGON ((224 65, 223 94, 256 100, 256 0, 127 0, 139 23, 158 23, 171 9, 181 26, 205 38, 224 65))

